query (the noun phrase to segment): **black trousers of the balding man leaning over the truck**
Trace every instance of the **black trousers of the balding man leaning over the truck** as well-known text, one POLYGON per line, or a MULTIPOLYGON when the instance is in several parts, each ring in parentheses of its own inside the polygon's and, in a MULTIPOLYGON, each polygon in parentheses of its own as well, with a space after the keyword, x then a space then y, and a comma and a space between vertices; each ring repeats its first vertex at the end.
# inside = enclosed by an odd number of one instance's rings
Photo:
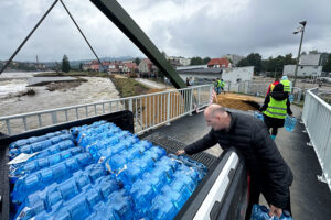
MULTIPOLYGON (((250 179, 252 179, 252 177, 250 177, 250 179)), ((263 194, 265 196, 266 200, 267 200, 268 193, 264 190, 266 186, 265 187, 263 187, 263 186, 264 185, 260 180, 255 180, 255 179, 250 180, 249 200, 248 200, 248 207, 247 207, 247 210, 246 210, 246 218, 245 218, 246 220, 250 219, 253 205, 259 202, 260 194, 263 194)), ((270 206, 270 202, 268 200, 267 200, 267 202, 270 206)), ((290 215, 292 216, 290 197, 287 201, 285 210, 289 211, 290 215)))

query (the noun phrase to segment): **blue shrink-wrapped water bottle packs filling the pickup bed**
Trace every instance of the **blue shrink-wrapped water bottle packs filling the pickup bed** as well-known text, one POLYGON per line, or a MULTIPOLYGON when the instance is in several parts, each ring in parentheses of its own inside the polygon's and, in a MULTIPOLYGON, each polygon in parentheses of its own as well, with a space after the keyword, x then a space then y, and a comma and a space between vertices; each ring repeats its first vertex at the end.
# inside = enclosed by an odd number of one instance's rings
POLYGON ((173 219, 206 167, 114 123, 10 144, 12 219, 173 219))

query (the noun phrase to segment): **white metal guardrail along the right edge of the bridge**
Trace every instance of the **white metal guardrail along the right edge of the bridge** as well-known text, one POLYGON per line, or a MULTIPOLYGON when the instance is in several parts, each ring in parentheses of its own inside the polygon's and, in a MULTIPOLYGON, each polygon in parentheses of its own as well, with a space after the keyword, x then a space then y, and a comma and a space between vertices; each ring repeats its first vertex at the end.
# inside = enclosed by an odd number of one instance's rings
POLYGON ((322 180, 331 190, 331 106, 318 97, 318 88, 306 92, 302 121, 322 167, 322 180))

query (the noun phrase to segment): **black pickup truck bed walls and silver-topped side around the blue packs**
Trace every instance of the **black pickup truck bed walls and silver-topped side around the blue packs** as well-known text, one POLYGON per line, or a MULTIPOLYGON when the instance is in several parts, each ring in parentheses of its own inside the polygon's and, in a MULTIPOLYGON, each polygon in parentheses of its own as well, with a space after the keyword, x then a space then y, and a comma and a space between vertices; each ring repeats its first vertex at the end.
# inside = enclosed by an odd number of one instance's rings
MULTIPOLYGON (((130 111, 121 111, 1 139, 1 219, 9 219, 10 213, 9 166, 7 165, 8 145, 20 139, 89 124, 98 120, 114 122, 120 129, 134 133, 132 113, 130 111)), ((154 145, 164 147, 168 153, 174 153, 185 145, 171 136, 159 133, 158 130, 150 132, 148 135, 139 136, 139 139, 149 140, 154 145)), ((218 158, 207 153, 199 153, 192 158, 203 163, 209 168, 209 172, 182 207, 175 219, 200 219, 202 216, 204 216, 205 219, 228 219, 228 217, 243 219, 243 213, 245 213, 245 202, 242 201, 247 199, 247 183, 243 160, 237 156, 234 150, 223 152, 218 158), (217 197, 215 197, 215 195, 217 195, 217 197), (243 206, 238 207, 238 204, 242 204, 243 206)))

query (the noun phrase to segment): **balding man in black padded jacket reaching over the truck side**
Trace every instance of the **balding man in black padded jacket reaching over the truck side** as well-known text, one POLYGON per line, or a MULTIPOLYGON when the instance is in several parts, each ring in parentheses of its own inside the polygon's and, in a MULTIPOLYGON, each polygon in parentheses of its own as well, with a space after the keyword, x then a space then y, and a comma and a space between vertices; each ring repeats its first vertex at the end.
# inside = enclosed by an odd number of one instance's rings
POLYGON ((264 122, 253 116, 225 111, 218 105, 209 106, 204 118, 212 130, 177 154, 195 154, 216 143, 223 150, 234 146, 244 156, 250 174, 246 219, 250 217, 253 205, 258 204, 260 194, 270 206, 269 216, 280 217, 282 210, 291 211, 289 186, 293 176, 264 122))

